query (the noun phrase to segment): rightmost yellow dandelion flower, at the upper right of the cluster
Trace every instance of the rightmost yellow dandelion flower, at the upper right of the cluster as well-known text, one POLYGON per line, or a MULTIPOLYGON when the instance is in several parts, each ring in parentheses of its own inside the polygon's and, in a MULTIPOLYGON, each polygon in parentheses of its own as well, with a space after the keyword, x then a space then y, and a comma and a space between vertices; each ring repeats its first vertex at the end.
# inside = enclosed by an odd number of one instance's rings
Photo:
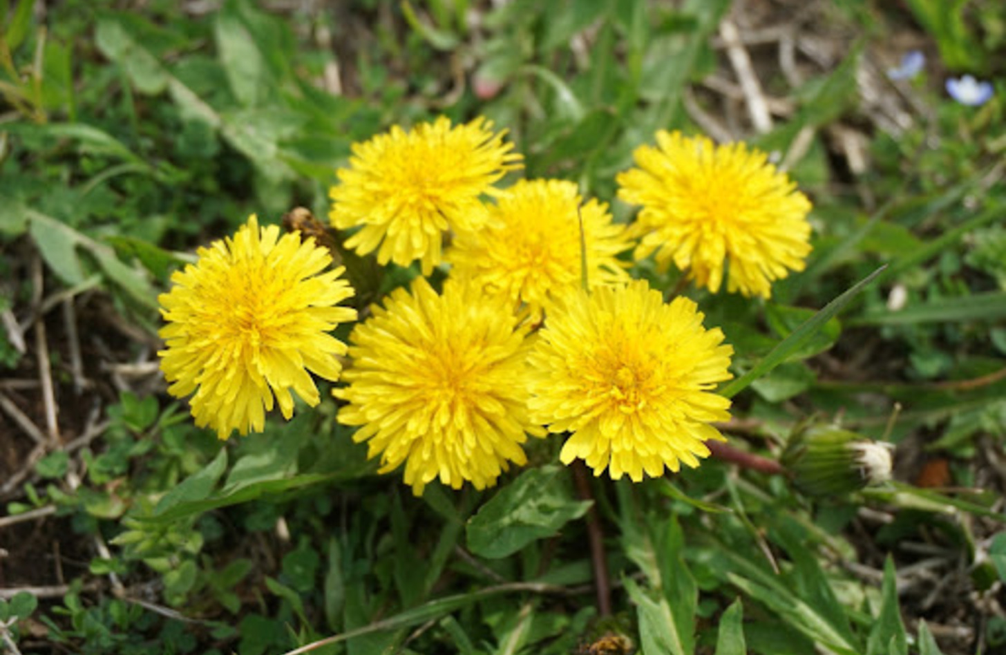
POLYGON ((728 262, 727 290, 763 298, 774 280, 804 270, 811 203, 765 153, 663 130, 657 146, 637 148, 638 168, 616 178, 619 197, 643 205, 636 259, 656 252, 658 266, 673 261, 713 293, 728 262))

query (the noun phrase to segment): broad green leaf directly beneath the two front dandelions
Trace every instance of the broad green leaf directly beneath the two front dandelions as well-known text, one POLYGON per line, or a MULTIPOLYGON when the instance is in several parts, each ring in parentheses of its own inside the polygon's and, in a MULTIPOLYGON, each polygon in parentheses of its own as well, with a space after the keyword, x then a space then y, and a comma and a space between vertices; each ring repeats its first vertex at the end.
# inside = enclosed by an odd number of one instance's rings
POLYGON ((505 557, 585 514, 591 502, 573 500, 567 478, 568 469, 558 466, 521 473, 469 519, 469 549, 483 557, 505 557))

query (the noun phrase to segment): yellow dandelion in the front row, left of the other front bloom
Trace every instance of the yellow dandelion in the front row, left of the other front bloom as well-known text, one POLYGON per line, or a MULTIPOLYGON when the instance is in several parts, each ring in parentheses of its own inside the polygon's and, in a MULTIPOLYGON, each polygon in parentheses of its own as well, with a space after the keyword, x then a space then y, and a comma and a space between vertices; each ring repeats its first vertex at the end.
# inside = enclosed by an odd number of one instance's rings
POLYGON ((350 335, 348 402, 339 422, 360 426, 381 473, 405 463, 415 495, 437 477, 460 489, 496 483, 508 462, 526 462, 526 328, 512 307, 471 284, 448 281, 438 295, 424 278, 373 307, 350 335))

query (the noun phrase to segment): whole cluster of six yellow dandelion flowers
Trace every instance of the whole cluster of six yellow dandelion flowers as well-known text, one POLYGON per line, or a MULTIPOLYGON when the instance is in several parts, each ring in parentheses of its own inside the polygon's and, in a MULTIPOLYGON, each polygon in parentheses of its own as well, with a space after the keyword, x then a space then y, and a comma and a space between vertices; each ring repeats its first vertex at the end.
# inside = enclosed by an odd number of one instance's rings
POLYGON ((450 269, 441 293, 418 277, 372 307, 348 348, 329 333, 357 319, 337 306, 353 290, 313 238, 252 216, 201 249, 160 297, 168 390, 194 391, 196 424, 227 439, 261 431, 274 396, 287 419, 291 390, 317 404, 309 370, 341 373, 339 422, 359 427, 382 472, 404 464, 416 495, 438 478, 491 486, 526 462, 528 435, 547 433, 568 434, 563 463, 614 479, 698 466, 705 442, 722 440, 711 424, 729 417, 714 387, 732 348, 694 302, 665 303, 620 256, 768 298, 804 267, 810 202, 762 153, 662 131, 617 178, 619 197, 642 206, 627 226, 571 182, 495 186, 522 165, 505 136, 441 118, 353 147, 331 190, 332 225, 356 230, 345 245, 382 265, 418 261, 424 276, 450 269))

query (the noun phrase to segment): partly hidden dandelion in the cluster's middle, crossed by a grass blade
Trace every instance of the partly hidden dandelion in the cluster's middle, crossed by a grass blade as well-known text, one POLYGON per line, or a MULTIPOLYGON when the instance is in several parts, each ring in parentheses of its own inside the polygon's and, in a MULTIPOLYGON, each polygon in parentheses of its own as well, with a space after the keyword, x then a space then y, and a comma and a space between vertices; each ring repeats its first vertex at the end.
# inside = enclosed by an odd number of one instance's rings
POLYGON ((517 182, 489 207, 486 228, 455 239, 447 253, 451 276, 471 278, 489 293, 502 293, 540 312, 581 286, 582 216, 591 286, 629 282, 617 259, 631 247, 625 227, 612 222, 607 204, 591 200, 580 207, 581 202, 572 182, 517 182))

